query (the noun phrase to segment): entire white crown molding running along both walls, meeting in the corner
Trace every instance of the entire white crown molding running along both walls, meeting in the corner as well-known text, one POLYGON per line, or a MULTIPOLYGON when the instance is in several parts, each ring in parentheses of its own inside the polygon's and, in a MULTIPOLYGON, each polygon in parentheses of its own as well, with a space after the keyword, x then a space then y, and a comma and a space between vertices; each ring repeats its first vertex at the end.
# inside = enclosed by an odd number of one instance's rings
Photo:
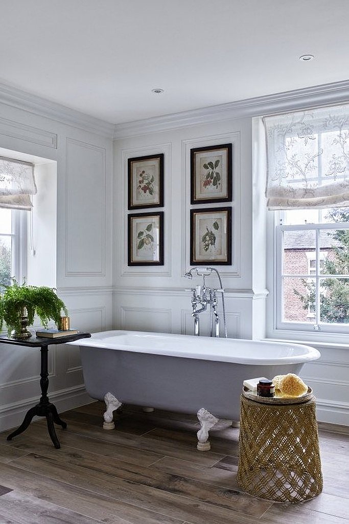
POLYGON ((0 83, 0 103, 16 107, 89 133, 121 139, 178 129, 187 126, 227 121, 232 118, 261 116, 304 107, 347 103, 349 80, 321 84, 251 99, 209 106, 197 110, 145 118, 124 124, 111 124, 57 102, 0 83))

